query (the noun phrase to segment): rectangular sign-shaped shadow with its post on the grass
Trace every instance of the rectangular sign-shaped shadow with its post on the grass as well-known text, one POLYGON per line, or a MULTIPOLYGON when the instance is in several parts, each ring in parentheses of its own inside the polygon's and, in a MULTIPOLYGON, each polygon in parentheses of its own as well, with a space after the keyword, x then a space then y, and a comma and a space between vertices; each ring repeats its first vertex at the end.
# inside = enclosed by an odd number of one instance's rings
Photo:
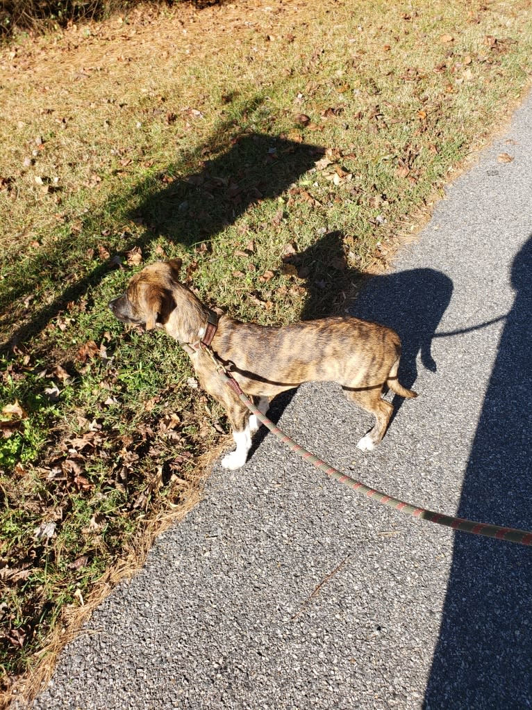
MULTIPOLYGON (((257 105, 254 102, 251 109, 257 105)), ((140 205, 127 217, 145 226, 142 236, 128 242, 124 239, 115 240, 111 249, 125 253, 140 246, 144 250, 160 236, 172 244, 184 246, 214 240, 224 227, 233 223, 250 206, 259 200, 281 195, 289 185, 312 168, 323 153, 323 149, 318 146, 260 133, 231 136, 230 129, 235 133, 233 124, 216 129, 209 141, 184 156, 179 164, 158 173, 157 178, 150 176, 140 182, 132 195, 124 197, 117 193, 111 198, 110 202, 116 204, 123 204, 124 200, 131 202, 135 198, 138 204, 136 198, 140 195, 140 205), (221 154, 213 160, 202 160, 202 153, 221 154), (190 173, 190 165, 198 164, 200 169, 190 173), (180 178, 182 173, 188 174, 180 178)), ((107 209, 112 212, 113 204, 108 204, 107 209)), ((87 223, 97 222, 97 216, 87 217, 87 223)), ((96 239, 101 241, 99 233, 96 239)), ((76 259, 70 253, 71 242, 72 235, 59 239, 52 250, 28 260, 24 265, 26 278, 21 277, 11 290, 4 291, 1 303, 3 312, 9 304, 35 293, 40 274, 50 268, 57 274, 57 280, 66 284, 52 302, 38 307, 30 320, 16 327, 9 342, 0 344, 0 352, 21 346, 42 332, 50 320, 65 310, 69 302, 79 300, 116 269, 116 261, 110 258, 77 278, 76 259)), ((96 246, 96 242, 92 245, 87 241, 83 249, 89 246, 96 246)), ((8 319, 5 312, 4 318, 8 319)))

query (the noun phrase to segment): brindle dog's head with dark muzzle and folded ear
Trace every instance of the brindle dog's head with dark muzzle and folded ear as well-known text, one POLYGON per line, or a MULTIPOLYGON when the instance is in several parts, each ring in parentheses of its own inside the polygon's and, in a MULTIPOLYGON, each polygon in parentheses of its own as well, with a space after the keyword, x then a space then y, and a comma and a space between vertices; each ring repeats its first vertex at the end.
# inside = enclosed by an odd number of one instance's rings
POLYGON ((167 323, 176 307, 174 288, 181 261, 159 261, 146 266, 128 283, 126 293, 109 301, 109 308, 124 323, 144 325, 146 330, 167 323))

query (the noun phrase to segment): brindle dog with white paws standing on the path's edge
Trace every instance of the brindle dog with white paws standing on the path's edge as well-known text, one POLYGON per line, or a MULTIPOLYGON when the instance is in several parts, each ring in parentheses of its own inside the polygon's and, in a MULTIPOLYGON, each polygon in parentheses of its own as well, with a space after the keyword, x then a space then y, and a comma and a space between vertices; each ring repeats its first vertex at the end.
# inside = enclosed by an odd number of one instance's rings
POLYGON ((348 399, 375 416, 375 426, 358 442, 370 451, 380 442, 393 413, 382 399, 385 388, 414 398, 397 378, 401 341, 384 325, 350 316, 301 321, 284 327, 243 323, 214 312, 182 283, 181 261, 146 266, 131 278, 126 293, 109 302, 118 320, 163 327, 190 356, 201 386, 226 409, 235 451, 222 459, 226 469, 245 464, 251 435, 260 426, 216 371, 209 349, 243 392, 258 398, 265 414, 270 398, 309 381, 337 382, 348 399))

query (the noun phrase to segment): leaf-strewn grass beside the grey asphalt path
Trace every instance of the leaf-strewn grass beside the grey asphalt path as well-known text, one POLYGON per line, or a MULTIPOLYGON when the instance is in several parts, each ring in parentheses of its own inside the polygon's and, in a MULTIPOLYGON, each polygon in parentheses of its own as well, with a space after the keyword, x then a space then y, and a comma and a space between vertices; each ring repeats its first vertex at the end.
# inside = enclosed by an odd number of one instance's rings
POLYGON ((187 356, 109 299, 179 256, 244 320, 342 312, 528 85, 529 1, 315 5, 140 7, 1 52, 6 698, 230 445, 187 356))

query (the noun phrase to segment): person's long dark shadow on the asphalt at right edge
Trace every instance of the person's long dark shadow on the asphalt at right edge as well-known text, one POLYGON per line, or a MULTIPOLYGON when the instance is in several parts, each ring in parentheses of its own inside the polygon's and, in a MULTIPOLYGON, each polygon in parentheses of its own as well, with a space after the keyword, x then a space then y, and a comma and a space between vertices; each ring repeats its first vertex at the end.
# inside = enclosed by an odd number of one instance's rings
MULTIPOLYGON (((532 528, 532 237, 514 259, 516 291, 460 498, 461 518, 532 528)), ((532 707, 532 552, 455 534, 424 707, 532 707)))

